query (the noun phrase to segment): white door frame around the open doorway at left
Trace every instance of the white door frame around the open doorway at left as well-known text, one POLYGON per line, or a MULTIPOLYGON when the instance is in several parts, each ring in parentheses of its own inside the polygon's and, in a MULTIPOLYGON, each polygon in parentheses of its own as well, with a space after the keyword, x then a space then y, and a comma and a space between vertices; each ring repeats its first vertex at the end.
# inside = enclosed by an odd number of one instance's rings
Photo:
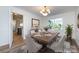
MULTIPOLYGON (((12 43, 13 43, 13 25, 12 25, 12 22, 13 22, 13 13, 16 13, 16 14, 21 14, 20 12, 15 12, 15 11, 10 11, 10 40, 9 40, 9 48, 12 48, 12 43)), ((21 14, 23 15, 23 14, 21 14)), ((24 40, 24 15, 23 15, 23 30, 22 30, 22 38, 24 40)))

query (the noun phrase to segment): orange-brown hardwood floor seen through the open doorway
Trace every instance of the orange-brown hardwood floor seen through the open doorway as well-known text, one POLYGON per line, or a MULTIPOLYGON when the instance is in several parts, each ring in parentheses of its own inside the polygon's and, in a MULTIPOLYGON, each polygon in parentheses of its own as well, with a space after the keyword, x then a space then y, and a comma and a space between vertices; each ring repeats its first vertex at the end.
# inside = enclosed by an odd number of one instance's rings
POLYGON ((13 33, 13 42, 12 42, 12 47, 19 45, 21 43, 24 43, 23 38, 21 35, 17 35, 16 32, 13 33))

